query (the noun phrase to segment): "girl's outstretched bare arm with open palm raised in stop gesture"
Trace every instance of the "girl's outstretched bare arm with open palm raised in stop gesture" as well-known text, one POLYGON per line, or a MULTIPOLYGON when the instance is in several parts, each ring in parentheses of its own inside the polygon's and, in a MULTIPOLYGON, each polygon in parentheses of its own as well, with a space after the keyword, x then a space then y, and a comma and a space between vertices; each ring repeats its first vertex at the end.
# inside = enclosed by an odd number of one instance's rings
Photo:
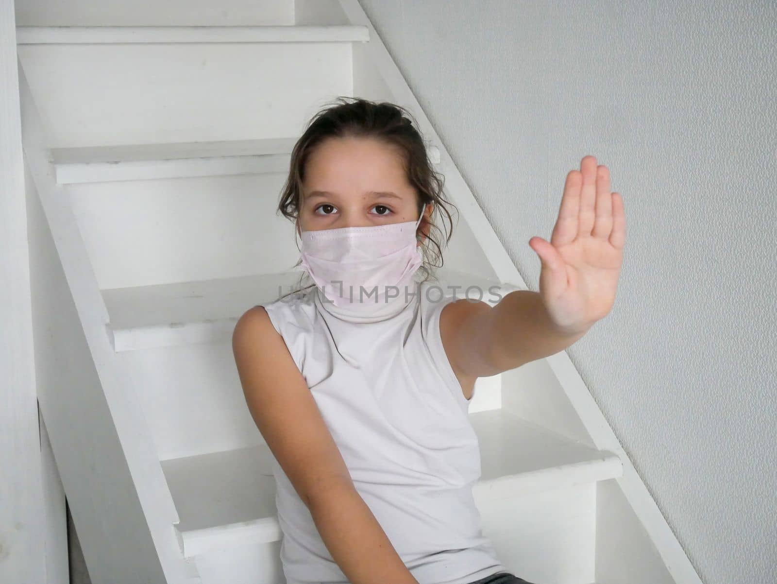
POLYGON ((615 302, 625 246, 625 211, 610 171, 594 156, 566 175, 551 240, 529 240, 542 264, 539 292, 516 290, 496 305, 462 299, 445 306, 440 334, 451 367, 479 377, 563 351, 615 302))

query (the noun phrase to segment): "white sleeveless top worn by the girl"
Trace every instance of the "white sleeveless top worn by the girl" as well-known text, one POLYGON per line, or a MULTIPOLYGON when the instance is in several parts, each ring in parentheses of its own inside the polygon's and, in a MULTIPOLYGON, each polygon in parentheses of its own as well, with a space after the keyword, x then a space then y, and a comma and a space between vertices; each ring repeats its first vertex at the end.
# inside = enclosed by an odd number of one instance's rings
MULTIPOLYGON (((480 476, 469 400, 440 337, 457 298, 411 284, 372 316, 315 286, 261 306, 308 383, 364 502, 420 584, 466 584, 506 572, 472 498, 480 476), (413 290, 411 288, 410 290, 413 290)), ((287 584, 347 584, 310 511, 272 457, 287 584)))

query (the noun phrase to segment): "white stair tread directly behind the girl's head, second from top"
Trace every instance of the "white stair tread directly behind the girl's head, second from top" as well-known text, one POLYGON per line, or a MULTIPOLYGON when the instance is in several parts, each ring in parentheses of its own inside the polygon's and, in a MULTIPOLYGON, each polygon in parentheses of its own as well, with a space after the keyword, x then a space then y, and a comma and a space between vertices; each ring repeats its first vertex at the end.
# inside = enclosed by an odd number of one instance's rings
MULTIPOLYGON (((51 149, 58 184, 287 172, 298 138, 51 149)), ((434 164, 440 151, 429 147, 434 164)))

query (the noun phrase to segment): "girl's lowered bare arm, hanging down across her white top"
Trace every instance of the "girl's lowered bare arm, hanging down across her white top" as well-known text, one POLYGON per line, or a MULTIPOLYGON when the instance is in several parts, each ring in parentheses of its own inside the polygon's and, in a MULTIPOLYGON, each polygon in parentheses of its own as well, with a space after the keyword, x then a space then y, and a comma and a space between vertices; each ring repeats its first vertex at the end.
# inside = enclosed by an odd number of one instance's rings
POLYGON ((361 498, 305 378, 263 306, 235 325, 232 351, 256 426, 352 584, 418 584, 361 498))

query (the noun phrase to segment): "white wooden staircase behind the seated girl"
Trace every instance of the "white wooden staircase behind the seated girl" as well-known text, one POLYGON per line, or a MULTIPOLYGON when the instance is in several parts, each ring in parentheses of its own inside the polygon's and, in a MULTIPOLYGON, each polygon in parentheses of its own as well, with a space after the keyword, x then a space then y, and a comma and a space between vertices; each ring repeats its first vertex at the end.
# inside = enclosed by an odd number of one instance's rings
MULTIPOLYGON (((94 584, 284 582, 272 454, 229 341, 298 278, 275 210, 324 103, 409 107, 460 212, 441 279, 526 288, 357 0, 211 4, 19 12, 30 221, 51 233, 39 402, 94 584)), ((700 582, 565 352, 479 379, 470 415, 510 571, 700 582)))

